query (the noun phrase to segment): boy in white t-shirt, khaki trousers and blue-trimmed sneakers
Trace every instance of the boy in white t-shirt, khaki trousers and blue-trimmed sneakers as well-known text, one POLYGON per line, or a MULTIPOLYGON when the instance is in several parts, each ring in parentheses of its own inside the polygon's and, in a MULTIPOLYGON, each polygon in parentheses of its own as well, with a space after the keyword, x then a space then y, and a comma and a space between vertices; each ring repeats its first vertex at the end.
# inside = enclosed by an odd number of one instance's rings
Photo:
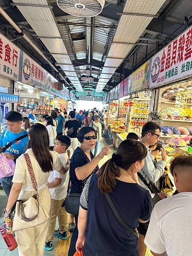
MULTIPOLYGON (((67 164, 68 155, 67 148, 70 146, 70 138, 61 135, 57 138, 55 151, 59 153, 59 158, 63 165, 67 164)), ((67 239, 67 212, 61 207, 67 196, 67 188, 69 183, 69 172, 62 175, 57 171, 52 171, 48 178, 48 188, 51 194, 51 208, 49 218, 49 228, 47 231, 47 239, 45 250, 52 250, 53 236, 62 240, 67 239), (56 218, 58 216, 59 228, 55 230, 56 218)))

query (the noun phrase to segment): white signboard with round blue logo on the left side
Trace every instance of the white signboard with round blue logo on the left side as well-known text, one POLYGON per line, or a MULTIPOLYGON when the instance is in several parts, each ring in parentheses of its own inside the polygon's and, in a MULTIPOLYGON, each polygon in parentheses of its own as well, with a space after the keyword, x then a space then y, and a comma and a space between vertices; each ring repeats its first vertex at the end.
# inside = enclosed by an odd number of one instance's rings
POLYGON ((47 71, 24 52, 21 82, 46 91, 47 71))

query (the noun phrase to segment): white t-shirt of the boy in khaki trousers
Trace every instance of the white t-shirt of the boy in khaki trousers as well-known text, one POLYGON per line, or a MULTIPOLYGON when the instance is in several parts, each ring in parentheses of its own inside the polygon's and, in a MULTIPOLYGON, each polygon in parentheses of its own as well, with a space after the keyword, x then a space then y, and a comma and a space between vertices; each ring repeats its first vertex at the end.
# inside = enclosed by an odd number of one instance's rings
MULTIPOLYGON (((67 152, 63 154, 59 154, 58 156, 63 166, 65 166, 67 164, 67 159, 68 159, 67 152)), ((49 175, 48 182, 49 183, 53 182, 55 178, 61 178, 62 181, 61 181, 61 184, 59 184, 58 186, 49 189, 51 198, 55 200, 64 199, 67 196, 67 188, 69 183, 69 171, 66 174, 60 174, 59 172, 53 170, 53 172, 51 172, 49 175)))

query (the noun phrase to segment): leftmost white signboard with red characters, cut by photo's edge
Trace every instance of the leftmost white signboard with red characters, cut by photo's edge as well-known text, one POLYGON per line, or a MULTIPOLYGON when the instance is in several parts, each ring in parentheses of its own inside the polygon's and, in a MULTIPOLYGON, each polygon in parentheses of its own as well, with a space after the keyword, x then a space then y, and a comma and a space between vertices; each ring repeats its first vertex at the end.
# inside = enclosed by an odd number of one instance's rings
POLYGON ((19 65, 20 49, 0 33, 0 74, 18 81, 19 65))

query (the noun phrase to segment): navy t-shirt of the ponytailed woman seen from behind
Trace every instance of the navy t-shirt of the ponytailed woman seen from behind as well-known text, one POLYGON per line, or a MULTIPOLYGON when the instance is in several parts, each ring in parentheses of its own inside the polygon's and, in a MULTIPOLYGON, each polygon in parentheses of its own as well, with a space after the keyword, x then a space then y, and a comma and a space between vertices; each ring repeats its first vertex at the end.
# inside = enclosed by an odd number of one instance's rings
MULTIPOLYGON (((81 194, 81 208, 88 210, 86 244, 108 256, 130 256, 138 249, 138 238, 116 219, 97 183, 97 175, 94 174, 87 180, 81 194)), ((133 229, 138 227, 138 219, 149 220, 152 198, 142 186, 116 180, 116 187, 110 196, 119 215, 133 229)))

